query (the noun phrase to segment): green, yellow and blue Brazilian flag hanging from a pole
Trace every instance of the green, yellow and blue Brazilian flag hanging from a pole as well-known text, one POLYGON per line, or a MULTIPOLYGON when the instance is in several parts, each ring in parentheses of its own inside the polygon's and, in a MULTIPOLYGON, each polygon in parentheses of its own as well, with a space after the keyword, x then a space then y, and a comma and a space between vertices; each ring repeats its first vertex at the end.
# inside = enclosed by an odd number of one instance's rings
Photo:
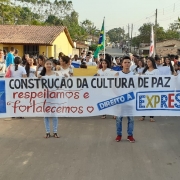
POLYGON ((105 47, 105 43, 104 42, 105 42, 105 31, 104 31, 104 20, 103 20, 103 24, 102 24, 102 28, 101 28, 101 32, 100 32, 98 46, 96 48, 96 51, 94 52, 94 57, 95 58, 97 58, 99 52, 104 49, 104 47, 105 47))

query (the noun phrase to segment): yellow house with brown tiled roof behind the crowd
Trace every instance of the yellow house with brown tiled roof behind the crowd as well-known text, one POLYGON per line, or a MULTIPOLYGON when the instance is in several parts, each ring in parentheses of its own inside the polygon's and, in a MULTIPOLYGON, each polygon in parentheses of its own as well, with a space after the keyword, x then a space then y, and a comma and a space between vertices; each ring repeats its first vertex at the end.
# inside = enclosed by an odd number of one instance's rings
POLYGON ((59 52, 73 55, 75 46, 64 26, 0 25, 0 49, 10 47, 24 54, 58 58, 59 52))

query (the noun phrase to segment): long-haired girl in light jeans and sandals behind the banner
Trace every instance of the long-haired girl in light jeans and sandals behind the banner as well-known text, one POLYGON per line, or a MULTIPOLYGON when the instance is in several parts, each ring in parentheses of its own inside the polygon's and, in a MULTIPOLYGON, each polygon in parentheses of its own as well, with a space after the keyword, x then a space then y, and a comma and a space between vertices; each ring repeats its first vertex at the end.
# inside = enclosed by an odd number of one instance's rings
MULTIPOLYGON (((53 67, 53 62, 51 60, 47 60, 44 64, 44 68, 41 71, 41 73, 38 75, 39 78, 46 76, 46 77, 54 77, 54 76, 59 76, 56 72, 52 70, 53 67)), ((59 138, 59 135, 57 134, 57 129, 58 129, 58 118, 57 117, 52 117, 53 119, 53 137, 59 138)), ((50 122, 49 122, 49 117, 44 117, 44 124, 46 128, 46 136, 45 138, 50 138, 50 122)))

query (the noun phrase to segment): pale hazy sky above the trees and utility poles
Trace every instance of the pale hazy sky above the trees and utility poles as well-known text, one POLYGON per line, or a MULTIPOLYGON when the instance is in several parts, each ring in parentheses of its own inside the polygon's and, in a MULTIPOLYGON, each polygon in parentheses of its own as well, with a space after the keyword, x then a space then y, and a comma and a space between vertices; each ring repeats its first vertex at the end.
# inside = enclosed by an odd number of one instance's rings
POLYGON ((157 21, 164 29, 180 17, 180 0, 72 0, 79 21, 89 19, 100 29, 105 17, 105 30, 121 27, 128 32, 133 24, 133 36, 143 23, 157 21))

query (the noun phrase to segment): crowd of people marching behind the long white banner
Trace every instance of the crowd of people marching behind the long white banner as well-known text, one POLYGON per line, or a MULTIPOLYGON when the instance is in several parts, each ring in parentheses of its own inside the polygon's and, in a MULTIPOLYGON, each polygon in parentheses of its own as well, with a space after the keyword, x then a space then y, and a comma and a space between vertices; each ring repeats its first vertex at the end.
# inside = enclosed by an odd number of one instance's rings
MULTIPOLYGON (((18 50, 11 47, 10 52, 6 53, 0 49, 0 76, 6 76, 10 71, 12 78, 28 78, 43 76, 73 76, 74 68, 88 68, 88 66, 96 66, 97 73, 94 76, 108 76, 110 71, 115 71, 115 76, 129 75, 178 75, 180 73, 180 58, 177 55, 167 55, 166 57, 155 56, 144 57, 133 55, 131 53, 122 57, 113 58, 110 54, 99 54, 98 58, 93 57, 91 51, 83 51, 80 56, 74 55, 69 57, 62 52, 59 53, 58 59, 53 57, 47 58, 45 55, 34 57, 25 54, 22 58, 18 55, 18 50), (163 70, 166 67, 166 70, 163 70)), ((102 118, 106 118, 103 115, 102 118)), ((114 117, 116 119, 117 137, 116 141, 122 138, 122 116, 114 117)), ((140 118, 145 120, 145 116, 140 118)), ((150 117, 150 121, 154 122, 154 117, 150 117)), ((44 117, 46 138, 50 135, 50 122, 48 117, 44 117)), ((58 118, 53 117, 53 136, 59 138, 57 134, 58 118)), ((127 140, 135 142, 133 137, 134 118, 128 117, 127 140)))

